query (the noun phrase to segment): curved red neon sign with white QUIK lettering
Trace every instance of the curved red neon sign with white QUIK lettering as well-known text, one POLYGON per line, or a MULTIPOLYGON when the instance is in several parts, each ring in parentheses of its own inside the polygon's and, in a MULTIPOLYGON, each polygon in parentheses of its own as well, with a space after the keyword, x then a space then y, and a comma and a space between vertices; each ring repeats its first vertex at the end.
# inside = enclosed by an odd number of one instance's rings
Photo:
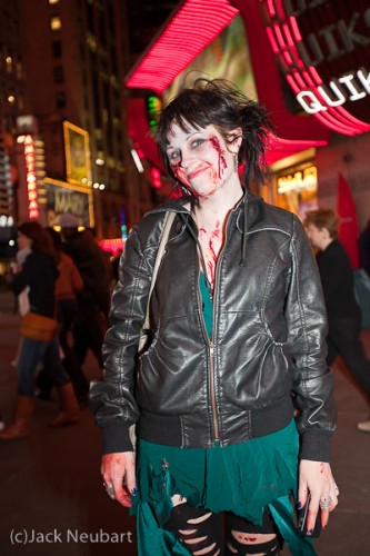
POLYGON ((349 111, 354 101, 370 95, 370 73, 364 68, 370 8, 352 0, 336 21, 334 4, 334 0, 260 0, 271 48, 298 102, 328 128, 354 136, 370 130, 370 123, 359 119, 361 109, 352 108, 359 118, 349 111), (326 85, 322 76, 328 73, 340 77, 329 77, 326 85))

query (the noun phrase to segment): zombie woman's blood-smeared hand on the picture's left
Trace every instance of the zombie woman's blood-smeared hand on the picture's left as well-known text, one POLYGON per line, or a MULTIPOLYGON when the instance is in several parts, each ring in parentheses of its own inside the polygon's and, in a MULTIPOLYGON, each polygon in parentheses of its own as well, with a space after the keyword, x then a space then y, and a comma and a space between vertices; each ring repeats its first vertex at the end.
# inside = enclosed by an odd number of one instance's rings
POLYGON ((113 488, 108 495, 129 508, 130 497, 137 494, 134 451, 106 454, 100 469, 106 488, 113 488))

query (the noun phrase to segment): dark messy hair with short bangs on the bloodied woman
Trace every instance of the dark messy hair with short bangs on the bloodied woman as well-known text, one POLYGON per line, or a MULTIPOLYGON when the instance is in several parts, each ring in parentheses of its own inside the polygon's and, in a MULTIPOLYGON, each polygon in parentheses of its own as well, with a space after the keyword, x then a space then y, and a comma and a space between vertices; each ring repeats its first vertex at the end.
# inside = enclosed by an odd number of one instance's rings
POLYGON ((230 143, 236 139, 230 131, 240 127, 242 142, 238 162, 244 163, 244 186, 249 187, 252 180, 264 182, 264 156, 273 125, 266 108, 247 98, 233 83, 199 78, 163 108, 156 138, 167 171, 176 180, 166 152, 174 123, 186 132, 189 126, 201 129, 212 125, 230 143))

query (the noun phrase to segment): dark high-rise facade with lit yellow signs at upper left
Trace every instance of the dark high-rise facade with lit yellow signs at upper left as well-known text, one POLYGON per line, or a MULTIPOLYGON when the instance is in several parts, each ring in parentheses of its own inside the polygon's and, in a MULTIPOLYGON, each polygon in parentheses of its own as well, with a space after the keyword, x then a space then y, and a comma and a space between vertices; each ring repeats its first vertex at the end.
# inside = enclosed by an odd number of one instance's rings
POLYGON ((7 236, 9 224, 58 226, 70 212, 99 239, 120 238, 162 197, 127 135, 124 75, 140 47, 130 9, 127 0, 0 0, 7 236))

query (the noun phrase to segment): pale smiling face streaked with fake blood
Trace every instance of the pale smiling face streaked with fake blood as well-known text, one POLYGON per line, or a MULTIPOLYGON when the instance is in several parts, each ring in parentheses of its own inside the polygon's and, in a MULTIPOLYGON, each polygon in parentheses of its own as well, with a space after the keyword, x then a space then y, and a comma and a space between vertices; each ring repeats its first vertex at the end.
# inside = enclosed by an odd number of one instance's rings
POLYGON ((189 126, 183 131, 173 125, 167 148, 172 172, 199 197, 209 197, 230 180, 239 179, 234 170, 234 153, 241 142, 241 129, 238 131, 230 133, 236 141, 229 145, 214 126, 189 126))

